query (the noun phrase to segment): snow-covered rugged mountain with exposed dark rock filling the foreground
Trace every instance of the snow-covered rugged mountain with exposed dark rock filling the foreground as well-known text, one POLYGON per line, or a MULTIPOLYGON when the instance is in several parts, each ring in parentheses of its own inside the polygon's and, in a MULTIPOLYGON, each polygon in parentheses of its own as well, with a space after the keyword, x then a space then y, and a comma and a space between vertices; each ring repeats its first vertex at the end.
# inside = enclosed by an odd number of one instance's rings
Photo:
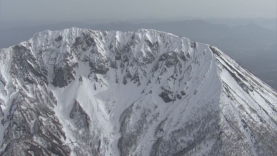
POLYGON ((276 91, 173 34, 43 31, 1 49, 1 155, 276 155, 276 91))

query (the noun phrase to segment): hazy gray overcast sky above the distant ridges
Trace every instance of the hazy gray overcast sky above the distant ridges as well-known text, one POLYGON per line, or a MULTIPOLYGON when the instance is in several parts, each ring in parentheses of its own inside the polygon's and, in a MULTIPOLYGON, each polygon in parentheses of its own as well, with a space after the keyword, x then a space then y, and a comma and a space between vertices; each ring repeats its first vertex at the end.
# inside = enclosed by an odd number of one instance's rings
POLYGON ((1 0, 0 20, 77 21, 100 18, 276 18, 276 0, 1 0))

